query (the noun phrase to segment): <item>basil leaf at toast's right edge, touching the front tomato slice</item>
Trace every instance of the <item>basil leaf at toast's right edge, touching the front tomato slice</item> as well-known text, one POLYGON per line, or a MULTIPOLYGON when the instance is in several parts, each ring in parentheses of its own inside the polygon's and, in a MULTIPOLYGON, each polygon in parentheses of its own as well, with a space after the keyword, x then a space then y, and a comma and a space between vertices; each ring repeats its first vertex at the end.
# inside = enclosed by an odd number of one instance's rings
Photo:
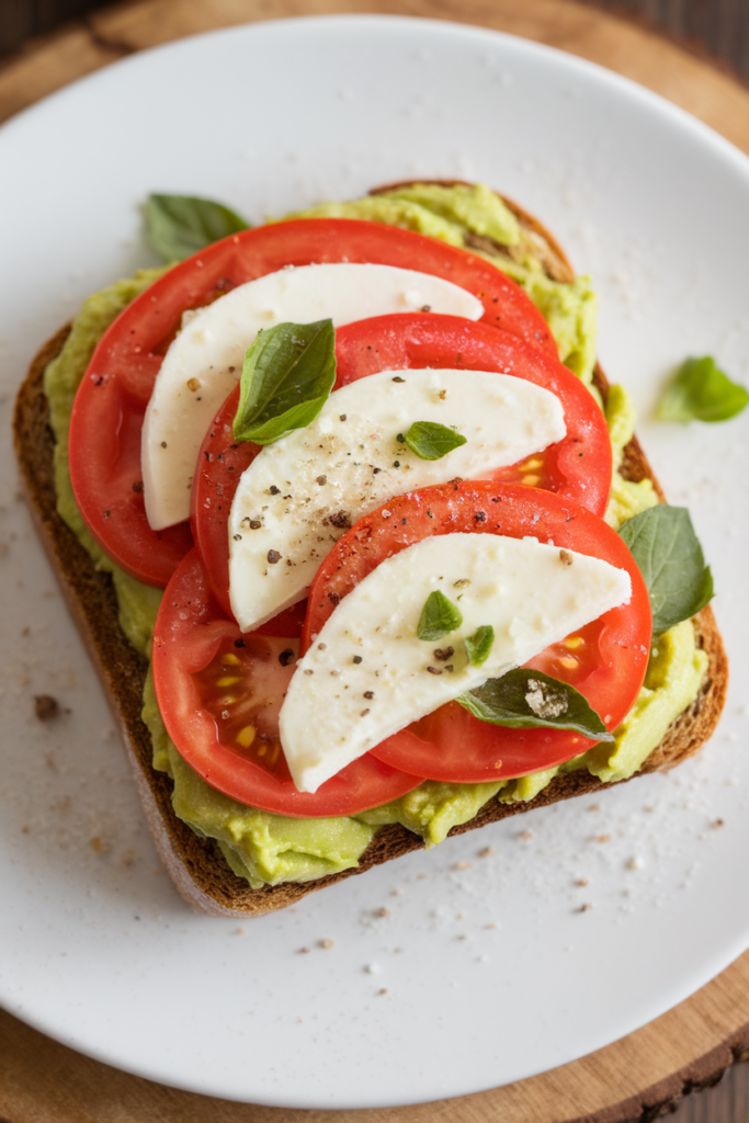
POLYGON ((648 586, 654 636, 707 604, 713 578, 686 508, 651 506, 628 519, 619 533, 648 586))

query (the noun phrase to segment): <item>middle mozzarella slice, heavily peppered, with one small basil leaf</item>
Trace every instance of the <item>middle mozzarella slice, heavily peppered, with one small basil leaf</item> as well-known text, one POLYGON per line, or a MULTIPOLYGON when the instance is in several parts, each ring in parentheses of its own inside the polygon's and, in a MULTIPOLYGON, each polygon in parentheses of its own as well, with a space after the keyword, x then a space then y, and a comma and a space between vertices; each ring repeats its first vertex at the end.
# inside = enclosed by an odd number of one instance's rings
POLYGON ((268 445, 243 473, 229 517, 229 590, 243 631, 301 600, 347 527, 393 495, 476 478, 561 440, 556 394, 486 371, 382 371, 337 390, 318 418, 268 445), (413 421, 467 442, 422 460, 413 421))

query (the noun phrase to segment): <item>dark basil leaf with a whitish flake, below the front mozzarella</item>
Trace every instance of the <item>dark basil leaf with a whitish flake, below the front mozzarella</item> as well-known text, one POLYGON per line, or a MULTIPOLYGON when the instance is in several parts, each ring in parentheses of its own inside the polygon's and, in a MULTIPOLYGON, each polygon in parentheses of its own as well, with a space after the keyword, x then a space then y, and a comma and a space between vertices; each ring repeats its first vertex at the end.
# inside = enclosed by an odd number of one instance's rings
POLYGON ((570 729, 596 741, 614 739, 579 691, 540 670, 518 667, 501 678, 488 678, 457 701, 474 718, 492 725, 510 729, 544 725, 570 729))

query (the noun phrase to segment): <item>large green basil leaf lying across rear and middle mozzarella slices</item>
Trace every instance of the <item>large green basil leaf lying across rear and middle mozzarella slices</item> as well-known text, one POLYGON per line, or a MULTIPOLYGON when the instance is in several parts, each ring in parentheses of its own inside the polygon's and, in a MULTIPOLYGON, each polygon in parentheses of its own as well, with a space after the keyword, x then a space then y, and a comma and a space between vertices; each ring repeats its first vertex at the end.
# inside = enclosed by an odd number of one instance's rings
POLYGON ((336 381, 332 320, 261 328, 241 367, 235 440, 271 445, 313 421, 336 381))

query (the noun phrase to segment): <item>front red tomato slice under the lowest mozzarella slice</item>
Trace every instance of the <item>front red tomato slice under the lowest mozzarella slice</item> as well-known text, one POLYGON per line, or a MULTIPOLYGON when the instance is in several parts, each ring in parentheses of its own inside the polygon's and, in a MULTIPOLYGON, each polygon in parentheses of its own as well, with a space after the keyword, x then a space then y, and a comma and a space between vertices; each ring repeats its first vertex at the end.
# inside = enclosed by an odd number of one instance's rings
MULTIPOLYGON (((605 522, 550 492, 520 485, 454 482, 389 500, 360 519, 328 555, 312 584, 302 654, 344 596, 382 560, 433 535, 455 531, 531 536, 627 569, 632 597, 528 666, 570 682, 613 730, 631 709, 648 665, 648 592, 632 555, 605 522)), ((449 638, 440 642, 444 649, 449 638)), ((429 779, 479 783, 523 776, 561 764, 594 745, 557 729, 506 729, 450 702, 372 750, 396 768, 429 779)))

